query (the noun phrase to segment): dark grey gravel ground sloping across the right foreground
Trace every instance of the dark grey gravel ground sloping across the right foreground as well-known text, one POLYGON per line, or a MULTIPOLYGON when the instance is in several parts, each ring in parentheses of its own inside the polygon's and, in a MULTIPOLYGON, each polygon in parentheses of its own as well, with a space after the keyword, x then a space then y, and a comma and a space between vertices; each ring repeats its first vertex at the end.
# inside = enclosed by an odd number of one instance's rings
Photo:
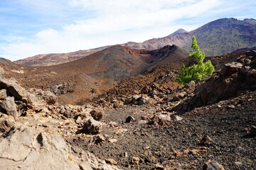
POLYGON ((180 115, 180 121, 154 125, 142 119, 156 114, 156 108, 110 109, 102 120, 104 141, 95 137, 73 141, 97 157, 114 159, 122 169, 202 169, 208 160, 225 169, 255 169, 256 137, 248 134, 256 123, 255 98, 256 91, 250 92, 196 108, 180 115), (129 115, 136 121, 125 123, 129 115), (206 135, 211 141, 201 143, 206 135), (139 163, 132 162, 132 157, 138 157, 139 163))

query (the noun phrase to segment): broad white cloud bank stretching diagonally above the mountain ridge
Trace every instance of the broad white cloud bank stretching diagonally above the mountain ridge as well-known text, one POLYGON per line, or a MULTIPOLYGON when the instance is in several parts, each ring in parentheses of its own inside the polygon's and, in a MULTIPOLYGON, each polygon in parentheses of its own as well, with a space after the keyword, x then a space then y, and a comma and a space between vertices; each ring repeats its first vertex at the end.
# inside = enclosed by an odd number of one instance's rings
MULTIPOLYGON (((172 22, 200 16, 218 4, 219 0, 69 0, 74 10, 93 10, 96 17, 74 21, 60 30, 42 30, 33 40, 12 42, 1 49, 10 60, 18 60, 41 53, 71 52, 127 41, 142 42, 169 35, 181 27, 172 25, 172 22)), ((189 26, 185 29, 189 28, 193 29, 189 26)))

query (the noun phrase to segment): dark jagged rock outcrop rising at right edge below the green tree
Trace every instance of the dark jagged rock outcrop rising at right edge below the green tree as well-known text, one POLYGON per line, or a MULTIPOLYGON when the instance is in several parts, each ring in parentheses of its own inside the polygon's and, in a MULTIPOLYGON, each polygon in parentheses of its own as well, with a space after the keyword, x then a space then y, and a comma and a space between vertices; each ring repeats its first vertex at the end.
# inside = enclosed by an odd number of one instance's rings
POLYGON ((174 108, 174 111, 191 111, 233 97, 239 91, 256 88, 256 51, 238 57, 237 62, 225 64, 220 72, 205 79, 193 91, 193 96, 174 108), (250 62, 248 62, 250 60, 250 62))

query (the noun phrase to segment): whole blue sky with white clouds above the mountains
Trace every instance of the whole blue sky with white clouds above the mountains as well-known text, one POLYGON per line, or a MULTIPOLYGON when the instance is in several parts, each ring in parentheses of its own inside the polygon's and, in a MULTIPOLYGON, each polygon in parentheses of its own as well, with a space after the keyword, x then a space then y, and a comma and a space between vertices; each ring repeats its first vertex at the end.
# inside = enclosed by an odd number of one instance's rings
POLYGON ((0 57, 143 42, 218 18, 256 18, 255 7, 252 0, 1 0, 0 57))

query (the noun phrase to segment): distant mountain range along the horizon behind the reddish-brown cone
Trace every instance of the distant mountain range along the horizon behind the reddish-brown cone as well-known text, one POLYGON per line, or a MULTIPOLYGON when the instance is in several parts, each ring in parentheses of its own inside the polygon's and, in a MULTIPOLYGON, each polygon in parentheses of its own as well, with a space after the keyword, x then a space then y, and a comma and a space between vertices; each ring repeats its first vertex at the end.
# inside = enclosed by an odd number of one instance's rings
MULTIPOLYGON (((240 21, 235 18, 222 18, 190 32, 179 29, 164 38, 154 38, 144 42, 127 42, 122 46, 140 50, 156 50, 165 45, 177 45, 190 50, 192 36, 196 36, 198 45, 206 53, 206 56, 223 55, 223 53, 233 52, 245 47, 251 48, 256 46, 256 20, 244 19, 240 21)), ((110 46, 63 54, 37 55, 18 60, 15 63, 32 66, 61 64, 78 60, 107 47, 110 46)))

